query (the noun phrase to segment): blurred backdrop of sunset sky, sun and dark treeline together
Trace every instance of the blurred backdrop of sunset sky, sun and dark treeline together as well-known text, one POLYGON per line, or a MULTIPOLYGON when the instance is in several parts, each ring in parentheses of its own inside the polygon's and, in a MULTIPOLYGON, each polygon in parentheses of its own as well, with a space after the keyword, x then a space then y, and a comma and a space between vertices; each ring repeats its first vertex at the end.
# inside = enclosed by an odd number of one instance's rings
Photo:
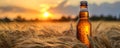
MULTIPOLYGON (((0 0, 0 20, 77 20, 80 0, 0 0)), ((88 0, 90 20, 120 20, 119 0, 88 0)))

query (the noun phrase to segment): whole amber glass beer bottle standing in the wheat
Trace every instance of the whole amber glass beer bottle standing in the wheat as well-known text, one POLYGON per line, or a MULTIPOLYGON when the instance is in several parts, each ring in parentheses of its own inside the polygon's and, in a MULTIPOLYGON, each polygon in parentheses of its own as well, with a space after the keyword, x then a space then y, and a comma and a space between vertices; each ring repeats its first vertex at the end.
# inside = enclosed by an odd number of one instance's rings
POLYGON ((89 22, 87 1, 81 1, 79 22, 77 25, 77 39, 84 43, 88 48, 91 48, 88 36, 91 36, 91 23, 89 22))

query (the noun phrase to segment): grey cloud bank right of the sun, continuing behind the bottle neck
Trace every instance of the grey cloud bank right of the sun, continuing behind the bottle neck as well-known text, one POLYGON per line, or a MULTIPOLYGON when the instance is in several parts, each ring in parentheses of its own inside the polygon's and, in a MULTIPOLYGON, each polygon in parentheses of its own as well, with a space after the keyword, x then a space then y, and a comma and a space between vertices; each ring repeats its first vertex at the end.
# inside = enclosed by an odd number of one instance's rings
MULTIPOLYGON (((62 3, 60 3, 57 7, 51 7, 49 9, 50 12, 56 13, 56 14, 62 14, 62 15, 78 15, 79 14, 79 6, 64 6, 68 1, 65 0, 62 3)), ((117 15, 120 14, 120 2, 115 3, 102 3, 101 5, 97 4, 89 4, 89 12, 90 15, 117 15)))

